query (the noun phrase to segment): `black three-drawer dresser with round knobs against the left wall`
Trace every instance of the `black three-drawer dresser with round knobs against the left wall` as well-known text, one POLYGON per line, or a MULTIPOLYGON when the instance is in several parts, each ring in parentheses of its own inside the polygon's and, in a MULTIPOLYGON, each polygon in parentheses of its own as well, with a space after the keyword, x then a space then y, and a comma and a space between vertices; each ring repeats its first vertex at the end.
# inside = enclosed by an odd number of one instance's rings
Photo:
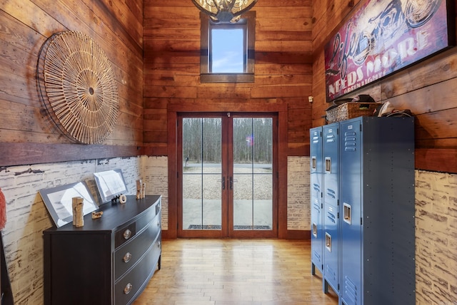
POLYGON ((44 304, 131 304, 160 269, 160 195, 99 210, 44 231, 44 304))

